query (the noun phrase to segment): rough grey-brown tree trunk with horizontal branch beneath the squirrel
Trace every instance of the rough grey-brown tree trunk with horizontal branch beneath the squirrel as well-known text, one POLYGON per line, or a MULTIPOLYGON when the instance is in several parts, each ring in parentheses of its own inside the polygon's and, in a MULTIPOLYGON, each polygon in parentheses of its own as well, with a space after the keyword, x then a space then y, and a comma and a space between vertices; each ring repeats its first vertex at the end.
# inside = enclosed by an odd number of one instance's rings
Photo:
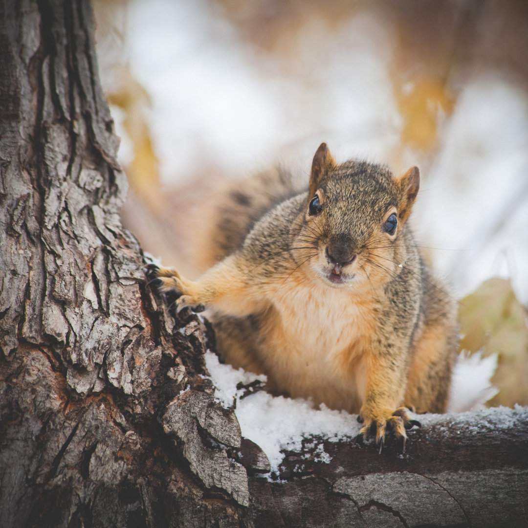
POLYGON ((208 328, 145 287, 120 225, 89 3, 1 1, 0 71, 1 528, 528 523, 521 408, 429 421, 406 454, 306 439, 262 476, 208 328))

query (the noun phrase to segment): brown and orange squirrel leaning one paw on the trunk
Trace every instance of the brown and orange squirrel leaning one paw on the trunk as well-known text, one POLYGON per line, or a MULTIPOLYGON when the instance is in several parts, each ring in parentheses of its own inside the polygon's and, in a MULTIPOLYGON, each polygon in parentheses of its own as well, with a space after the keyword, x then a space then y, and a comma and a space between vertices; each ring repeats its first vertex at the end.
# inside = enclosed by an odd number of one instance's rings
POLYGON ((408 225, 418 167, 401 176, 337 165, 325 143, 308 188, 287 173, 222 196, 208 244, 214 263, 191 281, 150 271, 178 309, 204 304, 218 351, 267 388, 359 414, 360 436, 407 438, 418 413, 445 412, 457 350, 454 300, 408 225), (249 191, 248 191, 249 188, 249 191))

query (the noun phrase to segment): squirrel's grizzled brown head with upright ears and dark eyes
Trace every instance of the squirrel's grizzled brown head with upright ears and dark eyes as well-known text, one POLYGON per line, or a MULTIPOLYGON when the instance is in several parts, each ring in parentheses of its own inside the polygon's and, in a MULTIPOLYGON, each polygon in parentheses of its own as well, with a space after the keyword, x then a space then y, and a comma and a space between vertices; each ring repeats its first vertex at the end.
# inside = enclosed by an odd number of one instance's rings
POLYGON ((403 225, 418 194, 420 173, 395 177, 366 162, 337 165, 325 143, 314 156, 301 236, 316 249, 309 266, 333 286, 380 284, 404 259, 403 225))

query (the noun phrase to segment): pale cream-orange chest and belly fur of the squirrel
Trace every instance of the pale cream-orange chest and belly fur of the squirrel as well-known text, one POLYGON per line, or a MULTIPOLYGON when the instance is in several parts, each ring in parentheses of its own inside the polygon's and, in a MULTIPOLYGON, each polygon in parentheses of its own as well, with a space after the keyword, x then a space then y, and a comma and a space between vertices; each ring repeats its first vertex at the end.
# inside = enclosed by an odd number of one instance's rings
POLYGON ((373 332, 371 309, 372 303, 345 288, 290 284, 277 291, 274 316, 262 329, 270 388, 359 411, 373 332))

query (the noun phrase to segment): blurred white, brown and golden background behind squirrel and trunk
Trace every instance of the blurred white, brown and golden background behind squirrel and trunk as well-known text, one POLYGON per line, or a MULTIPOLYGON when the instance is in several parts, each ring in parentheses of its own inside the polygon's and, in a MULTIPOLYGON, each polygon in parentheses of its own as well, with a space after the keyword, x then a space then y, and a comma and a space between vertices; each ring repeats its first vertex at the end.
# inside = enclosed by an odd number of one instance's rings
POLYGON ((412 222, 461 348, 498 360, 492 404, 528 404, 525 0, 92 3, 144 250, 185 270, 193 204, 276 163, 308 178, 323 141, 337 162, 418 165, 412 222))

